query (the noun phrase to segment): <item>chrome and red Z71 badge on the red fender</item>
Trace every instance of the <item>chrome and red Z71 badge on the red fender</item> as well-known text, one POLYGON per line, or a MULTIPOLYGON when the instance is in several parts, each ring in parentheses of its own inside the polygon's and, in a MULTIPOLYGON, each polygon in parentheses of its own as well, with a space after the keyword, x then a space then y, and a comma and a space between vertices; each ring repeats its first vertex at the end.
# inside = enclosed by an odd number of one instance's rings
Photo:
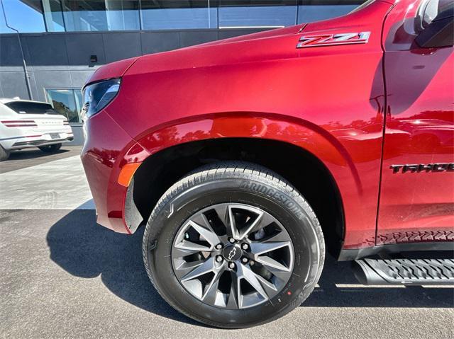
POLYGON ((297 48, 365 44, 369 37, 370 32, 303 35, 299 38, 297 48))

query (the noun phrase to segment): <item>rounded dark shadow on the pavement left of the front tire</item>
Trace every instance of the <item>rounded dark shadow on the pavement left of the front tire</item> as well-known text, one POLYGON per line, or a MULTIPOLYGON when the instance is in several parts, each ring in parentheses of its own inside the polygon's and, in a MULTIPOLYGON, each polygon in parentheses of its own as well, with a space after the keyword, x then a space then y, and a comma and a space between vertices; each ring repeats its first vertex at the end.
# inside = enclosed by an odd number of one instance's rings
POLYGON ((143 266, 142 237, 117 234, 96 224, 93 209, 76 209, 51 226, 46 240, 50 259, 76 277, 101 276, 121 299, 177 321, 194 323, 172 309, 156 292, 143 266))

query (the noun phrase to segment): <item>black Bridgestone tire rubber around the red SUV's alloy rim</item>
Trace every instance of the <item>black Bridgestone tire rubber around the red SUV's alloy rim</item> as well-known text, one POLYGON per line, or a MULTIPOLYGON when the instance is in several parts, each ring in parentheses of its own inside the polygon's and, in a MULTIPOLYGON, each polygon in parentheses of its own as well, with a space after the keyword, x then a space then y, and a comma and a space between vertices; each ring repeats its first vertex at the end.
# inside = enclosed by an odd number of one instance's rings
POLYGON ((204 166, 172 185, 150 215, 143 260, 157 292, 175 309, 219 328, 274 321, 301 304, 321 275, 325 243, 319 220, 304 197, 276 173, 244 162, 204 166), (272 299, 247 309, 222 309, 189 294, 175 276, 171 251, 177 231, 194 212, 222 202, 248 203, 273 214, 292 239, 295 260, 287 285, 272 299))

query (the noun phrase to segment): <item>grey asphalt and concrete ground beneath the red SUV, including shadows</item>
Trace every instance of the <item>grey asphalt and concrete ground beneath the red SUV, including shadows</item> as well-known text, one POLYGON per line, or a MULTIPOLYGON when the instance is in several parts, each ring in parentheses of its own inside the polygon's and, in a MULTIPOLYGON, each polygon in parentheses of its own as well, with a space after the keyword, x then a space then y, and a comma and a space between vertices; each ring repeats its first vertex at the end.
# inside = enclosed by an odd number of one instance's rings
POLYGON ((96 225, 79 151, 0 163, 2 338, 454 337, 453 288, 364 287, 350 263, 329 256, 314 293, 284 318, 201 326, 148 281, 143 229, 126 236, 96 225))

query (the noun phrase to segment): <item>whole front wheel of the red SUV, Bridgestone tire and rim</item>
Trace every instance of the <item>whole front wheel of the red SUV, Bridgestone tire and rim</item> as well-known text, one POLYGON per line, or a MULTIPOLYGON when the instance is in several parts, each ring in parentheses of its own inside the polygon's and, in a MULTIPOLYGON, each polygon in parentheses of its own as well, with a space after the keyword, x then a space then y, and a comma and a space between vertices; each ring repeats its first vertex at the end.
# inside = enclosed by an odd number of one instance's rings
POLYGON ((143 237, 150 280, 175 309, 221 328, 275 320, 319 280, 323 234, 296 189, 267 168, 218 163, 163 195, 143 237))

